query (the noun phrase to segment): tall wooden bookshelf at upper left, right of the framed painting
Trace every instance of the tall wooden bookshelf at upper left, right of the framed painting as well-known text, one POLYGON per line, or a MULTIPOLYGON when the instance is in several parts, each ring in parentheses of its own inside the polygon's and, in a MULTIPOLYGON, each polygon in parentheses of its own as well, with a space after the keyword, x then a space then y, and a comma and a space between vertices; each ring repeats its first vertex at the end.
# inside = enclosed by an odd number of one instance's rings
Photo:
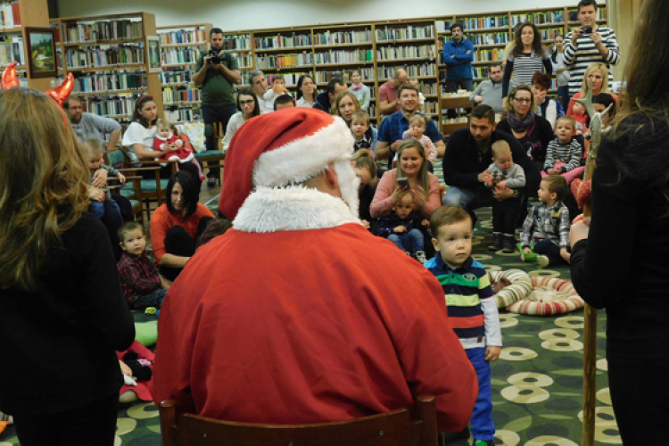
POLYGON ((156 35, 153 14, 63 18, 60 31, 63 75, 74 75, 72 95, 87 111, 120 120, 125 128, 142 95, 153 95, 161 110, 161 80, 146 60, 146 37, 156 35))

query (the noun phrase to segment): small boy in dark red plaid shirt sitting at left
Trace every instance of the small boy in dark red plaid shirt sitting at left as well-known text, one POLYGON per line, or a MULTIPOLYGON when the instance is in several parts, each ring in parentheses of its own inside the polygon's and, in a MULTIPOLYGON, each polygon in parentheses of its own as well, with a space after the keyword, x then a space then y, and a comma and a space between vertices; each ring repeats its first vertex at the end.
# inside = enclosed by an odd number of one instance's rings
POLYGON ((130 310, 161 308, 169 282, 158 274, 153 261, 146 255, 144 227, 136 221, 124 223, 119 229, 119 240, 123 254, 116 267, 130 310))

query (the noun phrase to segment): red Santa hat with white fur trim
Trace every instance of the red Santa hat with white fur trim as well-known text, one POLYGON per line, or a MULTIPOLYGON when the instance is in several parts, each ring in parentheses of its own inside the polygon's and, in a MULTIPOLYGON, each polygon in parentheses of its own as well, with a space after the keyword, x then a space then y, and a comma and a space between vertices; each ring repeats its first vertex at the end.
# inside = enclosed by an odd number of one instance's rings
POLYGON ((229 219, 255 186, 300 183, 353 151, 353 136, 339 117, 290 107, 252 118, 227 149, 219 210, 229 219))

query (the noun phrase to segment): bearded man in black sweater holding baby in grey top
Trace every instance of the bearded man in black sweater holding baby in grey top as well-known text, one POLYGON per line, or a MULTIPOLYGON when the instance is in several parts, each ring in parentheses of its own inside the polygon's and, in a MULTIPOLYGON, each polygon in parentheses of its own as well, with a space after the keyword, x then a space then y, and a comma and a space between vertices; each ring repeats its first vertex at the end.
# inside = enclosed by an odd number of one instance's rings
POLYGON ((527 213, 527 198, 536 194, 541 183, 539 168, 511 135, 495 130, 495 111, 489 105, 476 105, 469 114, 469 128, 460 128, 450 134, 443 155, 443 180, 449 186, 442 203, 465 208, 476 222, 474 210, 491 206, 493 200, 507 200, 523 195, 521 218, 527 213), (491 145, 503 139, 511 148, 514 163, 525 172, 523 189, 506 188, 497 191, 485 186, 491 179, 488 169, 492 162, 491 145))

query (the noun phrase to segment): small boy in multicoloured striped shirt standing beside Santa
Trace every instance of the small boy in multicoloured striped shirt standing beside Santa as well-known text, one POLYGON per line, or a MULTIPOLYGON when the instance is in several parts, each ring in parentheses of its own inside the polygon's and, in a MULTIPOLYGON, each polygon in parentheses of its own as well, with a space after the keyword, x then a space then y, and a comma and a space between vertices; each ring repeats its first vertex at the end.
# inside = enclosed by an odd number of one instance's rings
POLYGON ((479 392, 472 414, 474 446, 492 446, 490 362, 500 358, 501 329, 497 301, 485 267, 472 259, 472 219, 458 206, 442 206, 430 219, 437 255, 425 262, 442 284, 453 331, 478 376, 479 392))

